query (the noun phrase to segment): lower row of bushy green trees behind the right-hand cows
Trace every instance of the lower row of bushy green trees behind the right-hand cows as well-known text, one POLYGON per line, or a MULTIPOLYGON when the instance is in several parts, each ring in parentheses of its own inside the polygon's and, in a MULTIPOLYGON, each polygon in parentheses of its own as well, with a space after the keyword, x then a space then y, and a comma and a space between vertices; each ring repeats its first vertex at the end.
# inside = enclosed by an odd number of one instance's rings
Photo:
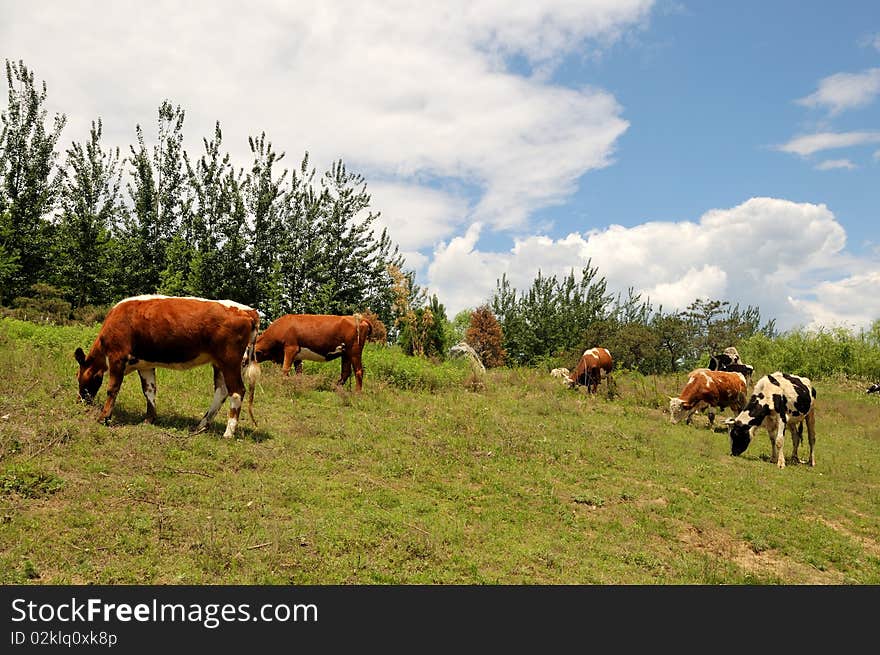
POLYGON ((516 365, 570 367, 587 348, 604 346, 618 368, 666 373, 755 335, 776 336, 775 321, 762 323, 757 307, 697 299, 667 312, 632 289, 615 296, 590 262, 579 278, 574 271, 562 280, 539 272, 522 292, 502 277, 491 306, 506 357, 516 365))

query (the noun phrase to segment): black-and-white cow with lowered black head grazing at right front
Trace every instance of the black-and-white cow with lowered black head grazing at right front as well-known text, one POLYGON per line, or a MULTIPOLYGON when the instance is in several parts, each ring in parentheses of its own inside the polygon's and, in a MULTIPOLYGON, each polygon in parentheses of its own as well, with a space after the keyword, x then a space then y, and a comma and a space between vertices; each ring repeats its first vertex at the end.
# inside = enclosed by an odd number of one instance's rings
POLYGON ((785 468, 782 445, 785 429, 791 432, 791 461, 798 459, 798 446, 803 437, 804 423, 810 441, 810 466, 816 465, 813 450, 816 444, 816 389, 809 378, 776 371, 765 375, 752 391, 745 409, 726 421, 730 434, 730 454, 740 455, 749 447, 752 434, 760 426, 770 436, 770 459, 785 468))

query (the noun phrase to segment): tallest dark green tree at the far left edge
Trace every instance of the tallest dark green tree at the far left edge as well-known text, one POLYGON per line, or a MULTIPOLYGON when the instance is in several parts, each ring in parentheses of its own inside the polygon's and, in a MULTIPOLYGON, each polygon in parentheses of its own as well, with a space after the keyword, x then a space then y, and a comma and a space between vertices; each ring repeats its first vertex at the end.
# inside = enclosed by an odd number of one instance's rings
POLYGON ((45 218, 59 186, 58 175, 53 175, 55 146, 67 122, 64 114, 56 114, 46 126, 46 83, 38 89, 23 61, 6 60, 6 80, 8 106, 0 114, 0 214, 5 213, 7 227, 0 230, 0 253, 5 253, 3 304, 44 281, 53 241, 52 226, 45 218))

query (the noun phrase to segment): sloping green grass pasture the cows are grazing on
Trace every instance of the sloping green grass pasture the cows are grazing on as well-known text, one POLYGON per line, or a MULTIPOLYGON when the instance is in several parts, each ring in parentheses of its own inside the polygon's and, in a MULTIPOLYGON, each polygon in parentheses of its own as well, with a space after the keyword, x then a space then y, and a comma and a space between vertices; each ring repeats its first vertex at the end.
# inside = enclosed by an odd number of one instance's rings
POLYGON ((338 362, 264 364, 259 424, 230 440, 225 412, 189 433, 206 367, 158 371, 156 425, 126 379, 99 425, 72 355, 96 332, 0 321, 2 583, 880 583, 880 399, 859 381, 815 381, 815 468, 778 470, 766 433, 734 458, 705 417, 671 425, 685 374, 587 397, 373 345, 362 394, 334 390, 338 362))

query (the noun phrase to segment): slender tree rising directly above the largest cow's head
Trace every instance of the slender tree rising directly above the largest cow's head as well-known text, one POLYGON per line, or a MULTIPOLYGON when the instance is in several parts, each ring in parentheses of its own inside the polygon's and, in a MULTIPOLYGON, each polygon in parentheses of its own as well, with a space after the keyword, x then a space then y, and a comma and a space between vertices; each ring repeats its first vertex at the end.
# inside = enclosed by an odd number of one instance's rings
POLYGON ((111 233, 123 207, 119 189, 119 148, 104 151, 101 119, 92 121, 89 140, 72 143, 61 176, 61 215, 54 246, 58 286, 74 308, 112 300, 111 233))

